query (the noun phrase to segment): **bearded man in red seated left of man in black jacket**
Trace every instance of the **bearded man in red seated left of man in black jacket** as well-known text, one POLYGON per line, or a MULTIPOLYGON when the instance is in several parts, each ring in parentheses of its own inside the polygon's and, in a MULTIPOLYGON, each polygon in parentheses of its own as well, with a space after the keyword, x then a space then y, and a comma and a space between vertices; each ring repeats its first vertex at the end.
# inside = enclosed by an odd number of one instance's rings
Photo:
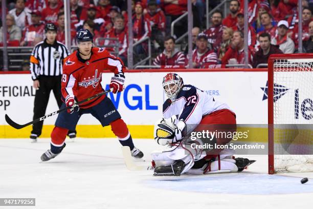
MULTIPOLYGON (((252 64, 252 57, 255 50, 248 46, 248 64, 252 64)), ((243 32, 235 31, 230 47, 221 59, 222 64, 244 64, 244 36, 243 32)))

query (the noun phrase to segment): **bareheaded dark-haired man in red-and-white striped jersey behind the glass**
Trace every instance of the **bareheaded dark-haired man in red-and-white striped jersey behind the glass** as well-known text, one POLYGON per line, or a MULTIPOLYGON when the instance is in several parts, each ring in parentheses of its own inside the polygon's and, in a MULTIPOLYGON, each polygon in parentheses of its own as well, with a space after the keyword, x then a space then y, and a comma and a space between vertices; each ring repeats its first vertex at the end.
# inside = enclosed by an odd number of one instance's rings
POLYGON ((185 68, 186 57, 183 52, 175 48, 175 39, 172 36, 165 37, 164 47, 165 50, 154 59, 153 65, 164 66, 164 68, 185 68))

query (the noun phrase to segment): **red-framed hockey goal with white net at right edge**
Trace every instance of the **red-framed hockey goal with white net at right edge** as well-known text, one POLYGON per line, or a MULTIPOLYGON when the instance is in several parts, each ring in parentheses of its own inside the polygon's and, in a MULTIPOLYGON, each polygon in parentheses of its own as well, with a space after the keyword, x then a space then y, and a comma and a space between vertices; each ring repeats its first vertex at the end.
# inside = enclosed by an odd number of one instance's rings
MULTIPOLYGON (((295 89, 298 87, 294 87, 299 84, 299 86, 303 86, 302 82, 308 82, 310 81, 309 79, 306 79, 305 76, 307 72, 312 72, 313 71, 313 54, 309 53, 301 53, 301 54, 273 54, 270 56, 268 60, 268 124, 269 124, 269 129, 268 129, 268 136, 269 136, 269 174, 274 174, 277 172, 277 165, 278 163, 285 163, 288 161, 297 161, 298 158, 300 158, 298 155, 288 155, 288 157, 284 157, 279 153, 278 156, 275 156, 275 153, 277 153, 276 149, 277 148, 277 140, 274 138, 274 125, 275 124, 294 124, 298 123, 300 120, 296 120, 296 113, 294 115, 290 115, 287 117, 282 116, 283 114, 291 114, 292 113, 292 102, 290 100, 290 104, 286 105, 285 103, 288 103, 287 101, 287 96, 284 97, 286 92, 288 94, 292 94, 295 89), (302 80, 300 80, 302 79, 302 80), (300 85, 301 84, 301 85, 300 85), (292 87, 290 87, 292 86, 292 87), (275 87, 275 88, 274 88, 275 87), (274 92, 275 89, 275 92, 274 92), (293 91, 292 91, 293 90, 293 91), (284 92, 286 91, 286 92, 284 92), (275 97, 275 102, 274 102, 274 97, 275 97), (284 97, 283 99, 280 99, 281 97, 284 97), (283 101, 280 101, 283 100, 283 101), (287 101, 287 102, 286 102, 287 101), (283 103, 284 102, 284 103, 283 103), (280 107, 281 106, 281 107, 280 107), (286 106, 289 106, 288 108, 286 106), (286 111, 288 110, 288 111, 286 111), (275 140, 274 140, 275 139, 275 140), (276 147, 276 148, 275 148, 276 147), (274 150, 275 149, 275 150, 274 150), (283 162, 283 158, 285 158, 285 162, 283 162), (291 160, 290 160, 291 159, 291 160)), ((313 72, 312 72, 313 73, 313 72)), ((313 75, 312 75, 313 77, 313 75)), ((313 82, 313 80, 312 80, 313 82)), ((313 88, 309 89, 312 87, 311 83, 306 83, 306 86, 308 89, 306 92, 313 92, 313 88)), ((299 90, 299 89, 298 89, 299 90)), ((297 91, 297 90, 296 90, 297 91)), ((297 92, 296 92, 297 93, 297 92)), ((295 93, 295 95, 296 95, 295 93)), ((313 93, 311 93, 313 95, 313 93)), ((292 98, 290 96, 290 98, 292 98)), ((296 98, 296 97, 295 97, 296 98)), ((310 97, 310 98, 313 98, 310 97)), ((294 108, 296 107, 296 102, 294 102, 294 108)), ((298 101, 298 106, 299 106, 299 101, 298 101)), ((299 107, 298 107, 299 109, 299 107)), ((299 117, 299 116, 298 116, 299 117)), ((302 120, 301 123, 307 122, 308 124, 313 123, 313 119, 308 120, 302 120)), ((306 123, 306 124, 307 124, 306 123)), ((283 136, 285 137, 285 136, 283 136)), ((287 142, 288 143, 288 142, 287 142)), ((281 149, 281 148, 280 148, 281 149)), ((287 156, 287 155, 286 155, 287 156)), ((302 155, 303 156, 303 155, 302 155)), ((297 163, 297 162, 295 162, 297 163)), ((301 162, 303 163, 303 162, 301 162)), ((306 163, 306 162, 304 162, 306 163)), ((285 165, 284 165, 285 166, 285 165)), ((289 165, 288 165, 289 166, 289 165)), ((290 165, 291 166, 291 165, 290 165)), ((287 165, 286 165, 287 167, 287 165)), ((287 168, 282 168, 284 170, 287 168)))

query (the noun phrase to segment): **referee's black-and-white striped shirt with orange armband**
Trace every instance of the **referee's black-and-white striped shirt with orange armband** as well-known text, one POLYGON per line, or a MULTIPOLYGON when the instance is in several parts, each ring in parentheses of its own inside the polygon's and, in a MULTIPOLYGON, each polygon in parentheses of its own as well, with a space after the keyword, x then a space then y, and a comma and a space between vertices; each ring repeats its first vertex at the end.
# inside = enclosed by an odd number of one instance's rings
POLYGON ((67 56, 68 49, 59 41, 53 45, 47 44, 46 39, 41 41, 34 47, 30 57, 32 79, 36 80, 40 75, 62 75, 63 59, 67 56))

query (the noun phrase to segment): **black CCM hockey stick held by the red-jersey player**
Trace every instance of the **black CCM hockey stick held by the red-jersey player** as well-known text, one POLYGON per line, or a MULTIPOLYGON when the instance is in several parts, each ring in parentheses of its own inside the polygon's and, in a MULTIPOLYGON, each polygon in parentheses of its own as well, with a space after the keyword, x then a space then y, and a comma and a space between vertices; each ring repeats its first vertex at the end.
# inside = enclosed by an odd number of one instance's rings
MULTIPOLYGON (((84 102, 86 102, 86 101, 89 101, 89 100, 92 100, 92 99, 97 98, 97 97, 99 97, 99 96, 102 96, 102 95, 104 95, 104 94, 106 94, 106 93, 108 93, 108 92, 111 92, 112 90, 113 90, 113 88, 111 88, 111 89, 109 89, 109 90, 106 90, 106 91, 104 91, 104 92, 100 92, 100 93, 98 93, 98 94, 96 94, 96 95, 94 95, 94 96, 92 96, 92 97, 89 97, 89 98, 86 98, 86 99, 84 99, 84 100, 82 100, 82 101, 77 102, 76 105, 80 105, 81 103, 84 103, 84 102)), ((65 110, 68 110, 68 109, 71 109, 71 108, 72 108, 72 107, 66 107, 66 108, 57 110, 57 111, 55 111, 55 112, 53 112, 53 113, 50 113, 50 114, 48 114, 48 115, 44 115, 44 116, 42 116, 42 117, 40 117, 40 118, 37 118, 37 119, 35 119, 35 120, 31 121, 31 122, 28 122, 28 123, 26 123, 26 124, 23 124, 23 125, 17 124, 16 122, 14 122, 7 114, 6 114, 5 118, 6 118, 7 123, 8 123, 11 127, 15 128, 15 129, 22 129, 22 128, 24 128, 24 127, 27 127, 27 126, 33 124, 33 123, 39 122, 39 121, 41 121, 41 120, 44 120, 44 119, 46 119, 46 118, 48 118, 48 117, 51 117, 51 116, 53 116, 53 115, 56 115, 56 114, 58 114, 58 113, 60 113, 60 112, 63 112, 63 111, 65 111, 65 110)))

